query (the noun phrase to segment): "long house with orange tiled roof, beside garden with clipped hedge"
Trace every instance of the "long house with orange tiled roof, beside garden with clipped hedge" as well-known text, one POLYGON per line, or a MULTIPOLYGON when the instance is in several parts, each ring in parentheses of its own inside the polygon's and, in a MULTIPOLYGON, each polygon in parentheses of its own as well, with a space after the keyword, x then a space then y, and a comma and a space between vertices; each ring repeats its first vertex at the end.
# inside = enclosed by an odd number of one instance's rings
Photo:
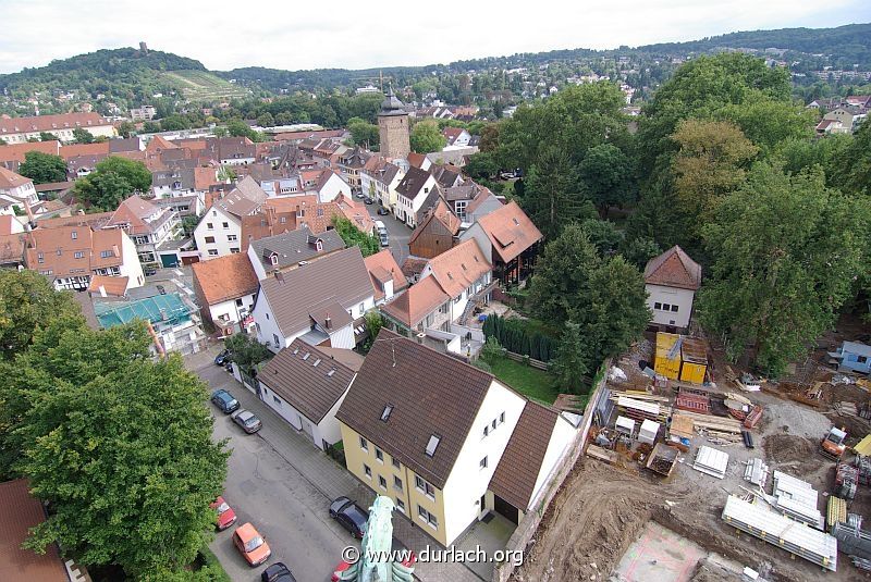
POLYGON ((489 300, 492 288, 489 259, 476 240, 466 240, 429 259, 419 281, 380 309, 385 325, 403 335, 450 332, 467 309, 489 300))

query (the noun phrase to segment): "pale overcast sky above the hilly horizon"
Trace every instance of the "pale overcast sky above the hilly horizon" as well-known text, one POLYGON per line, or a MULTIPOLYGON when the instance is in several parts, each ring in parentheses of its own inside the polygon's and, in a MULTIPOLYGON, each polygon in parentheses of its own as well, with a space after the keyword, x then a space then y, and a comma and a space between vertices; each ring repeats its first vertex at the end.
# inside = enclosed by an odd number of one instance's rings
POLYGON ((102 48, 211 70, 363 69, 871 21, 868 0, 0 0, 0 73, 102 48))

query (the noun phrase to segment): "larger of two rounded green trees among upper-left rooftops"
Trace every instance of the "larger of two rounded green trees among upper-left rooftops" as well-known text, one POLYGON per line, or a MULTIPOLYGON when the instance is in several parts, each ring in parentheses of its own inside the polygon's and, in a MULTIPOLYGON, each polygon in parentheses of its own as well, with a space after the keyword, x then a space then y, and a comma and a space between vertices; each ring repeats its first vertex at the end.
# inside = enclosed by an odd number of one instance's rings
POLYGON ((97 163, 94 172, 79 178, 73 191, 76 199, 94 209, 114 210, 122 200, 151 187, 151 172, 143 162, 110 156, 97 163))

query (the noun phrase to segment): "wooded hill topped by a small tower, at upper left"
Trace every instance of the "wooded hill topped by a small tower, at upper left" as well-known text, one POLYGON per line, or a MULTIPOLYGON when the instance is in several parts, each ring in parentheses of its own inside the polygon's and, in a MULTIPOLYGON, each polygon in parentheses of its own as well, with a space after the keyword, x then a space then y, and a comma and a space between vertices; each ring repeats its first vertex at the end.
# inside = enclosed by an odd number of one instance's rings
MULTIPOLYGON (((109 103, 115 103, 122 113, 143 103, 159 106, 159 99, 155 103, 155 95, 211 101, 248 94, 213 75, 197 60, 133 48, 98 50, 0 75, 0 92, 19 104, 39 94, 41 113, 66 111, 75 102, 88 101, 103 114, 112 113, 109 103)), ((171 109, 171 103, 168 107, 171 109)), ((32 113, 16 111, 11 104, 0 112, 32 113)))

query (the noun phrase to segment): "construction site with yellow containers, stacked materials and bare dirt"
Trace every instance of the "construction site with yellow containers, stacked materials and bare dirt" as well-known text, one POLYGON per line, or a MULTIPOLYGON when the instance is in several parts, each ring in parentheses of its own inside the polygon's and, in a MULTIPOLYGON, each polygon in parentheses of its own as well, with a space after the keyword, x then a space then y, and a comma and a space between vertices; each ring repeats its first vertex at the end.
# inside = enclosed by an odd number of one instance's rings
POLYGON ((871 579, 871 384, 843 340, 774 382, 698 330, 646 335, 513 580, 871 579))

